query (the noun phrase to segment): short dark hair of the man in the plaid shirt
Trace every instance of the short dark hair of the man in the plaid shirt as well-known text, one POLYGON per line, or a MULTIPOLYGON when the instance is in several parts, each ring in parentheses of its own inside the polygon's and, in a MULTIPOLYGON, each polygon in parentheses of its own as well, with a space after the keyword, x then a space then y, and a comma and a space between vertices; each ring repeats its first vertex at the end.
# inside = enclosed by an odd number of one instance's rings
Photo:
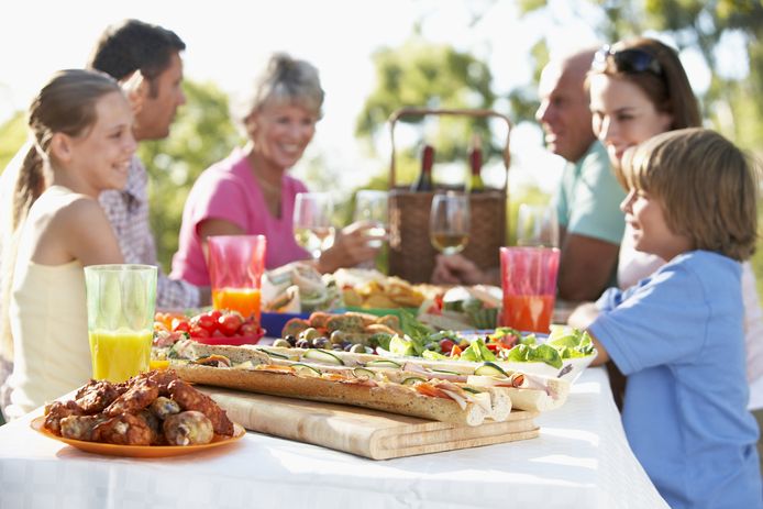
POLYGON ((135 70, 148 79, 150 93, 156 97, 155 79, 169 67, 172 56, 186 43, 170 30, 139 20, 124 20, 101 34, 88 58, 88 67, 122 80, 135 70))

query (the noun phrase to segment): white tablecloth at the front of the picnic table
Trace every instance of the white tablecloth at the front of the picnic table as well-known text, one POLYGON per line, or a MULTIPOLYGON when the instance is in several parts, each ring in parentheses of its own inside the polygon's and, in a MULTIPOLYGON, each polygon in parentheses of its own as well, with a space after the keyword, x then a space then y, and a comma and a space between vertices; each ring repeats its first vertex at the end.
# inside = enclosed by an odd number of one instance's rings
POLYGON ((606 372, 587 369, 538 439, 375 462, 247 433, 159 460, 92 455, 0 428, 0 508, 661 508, 631 453, 606 372))

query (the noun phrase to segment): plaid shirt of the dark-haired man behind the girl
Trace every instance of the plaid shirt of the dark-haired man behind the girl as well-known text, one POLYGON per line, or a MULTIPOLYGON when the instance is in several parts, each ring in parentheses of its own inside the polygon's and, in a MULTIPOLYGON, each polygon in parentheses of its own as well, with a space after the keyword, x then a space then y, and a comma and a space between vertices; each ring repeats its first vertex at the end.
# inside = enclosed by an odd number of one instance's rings
MULTIPOLYGON (((101 207, 119 239, 124 263, 157 265, 154 235, 148 225, 148 174, 141 159, 133 157, 128 184, 121 191, 103 191, 101 207)), ((199 289, 189 283, 168 278, 159 267, 156 285, 157 308, 196 308, 199 289)))

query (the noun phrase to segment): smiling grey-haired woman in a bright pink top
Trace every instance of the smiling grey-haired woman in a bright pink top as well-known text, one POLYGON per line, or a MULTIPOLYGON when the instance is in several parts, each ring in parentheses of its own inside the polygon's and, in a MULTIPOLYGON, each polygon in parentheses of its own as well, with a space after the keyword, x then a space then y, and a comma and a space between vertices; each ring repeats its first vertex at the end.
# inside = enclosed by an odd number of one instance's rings
MULTIPOLYGON (((285 54, 270 58, 243 117, 250 142, 204 170, 188 196, 173 277, 209 286, 204 253, 210 235, 264 234, 266 268, 310 258, 291 226, 295 197, 307 187, 286 171, 312 141, 322 103, 316 67, 285 54)), ((377 248, 368 245, 367 228, 345 228, 318 259, 319 270, 373 259, 377 248)))

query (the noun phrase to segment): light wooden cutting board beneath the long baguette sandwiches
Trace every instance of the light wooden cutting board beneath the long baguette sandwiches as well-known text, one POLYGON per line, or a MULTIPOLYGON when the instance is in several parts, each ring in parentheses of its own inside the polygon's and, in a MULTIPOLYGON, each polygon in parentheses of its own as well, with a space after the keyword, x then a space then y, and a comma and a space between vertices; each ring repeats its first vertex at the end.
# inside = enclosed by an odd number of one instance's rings
POLYGON ((538 412, 512 411, 505 422, 462 427, 416 417, 301 399, 197 386, 247 430, 372 460, 439 453, 534 439, 538 412))

